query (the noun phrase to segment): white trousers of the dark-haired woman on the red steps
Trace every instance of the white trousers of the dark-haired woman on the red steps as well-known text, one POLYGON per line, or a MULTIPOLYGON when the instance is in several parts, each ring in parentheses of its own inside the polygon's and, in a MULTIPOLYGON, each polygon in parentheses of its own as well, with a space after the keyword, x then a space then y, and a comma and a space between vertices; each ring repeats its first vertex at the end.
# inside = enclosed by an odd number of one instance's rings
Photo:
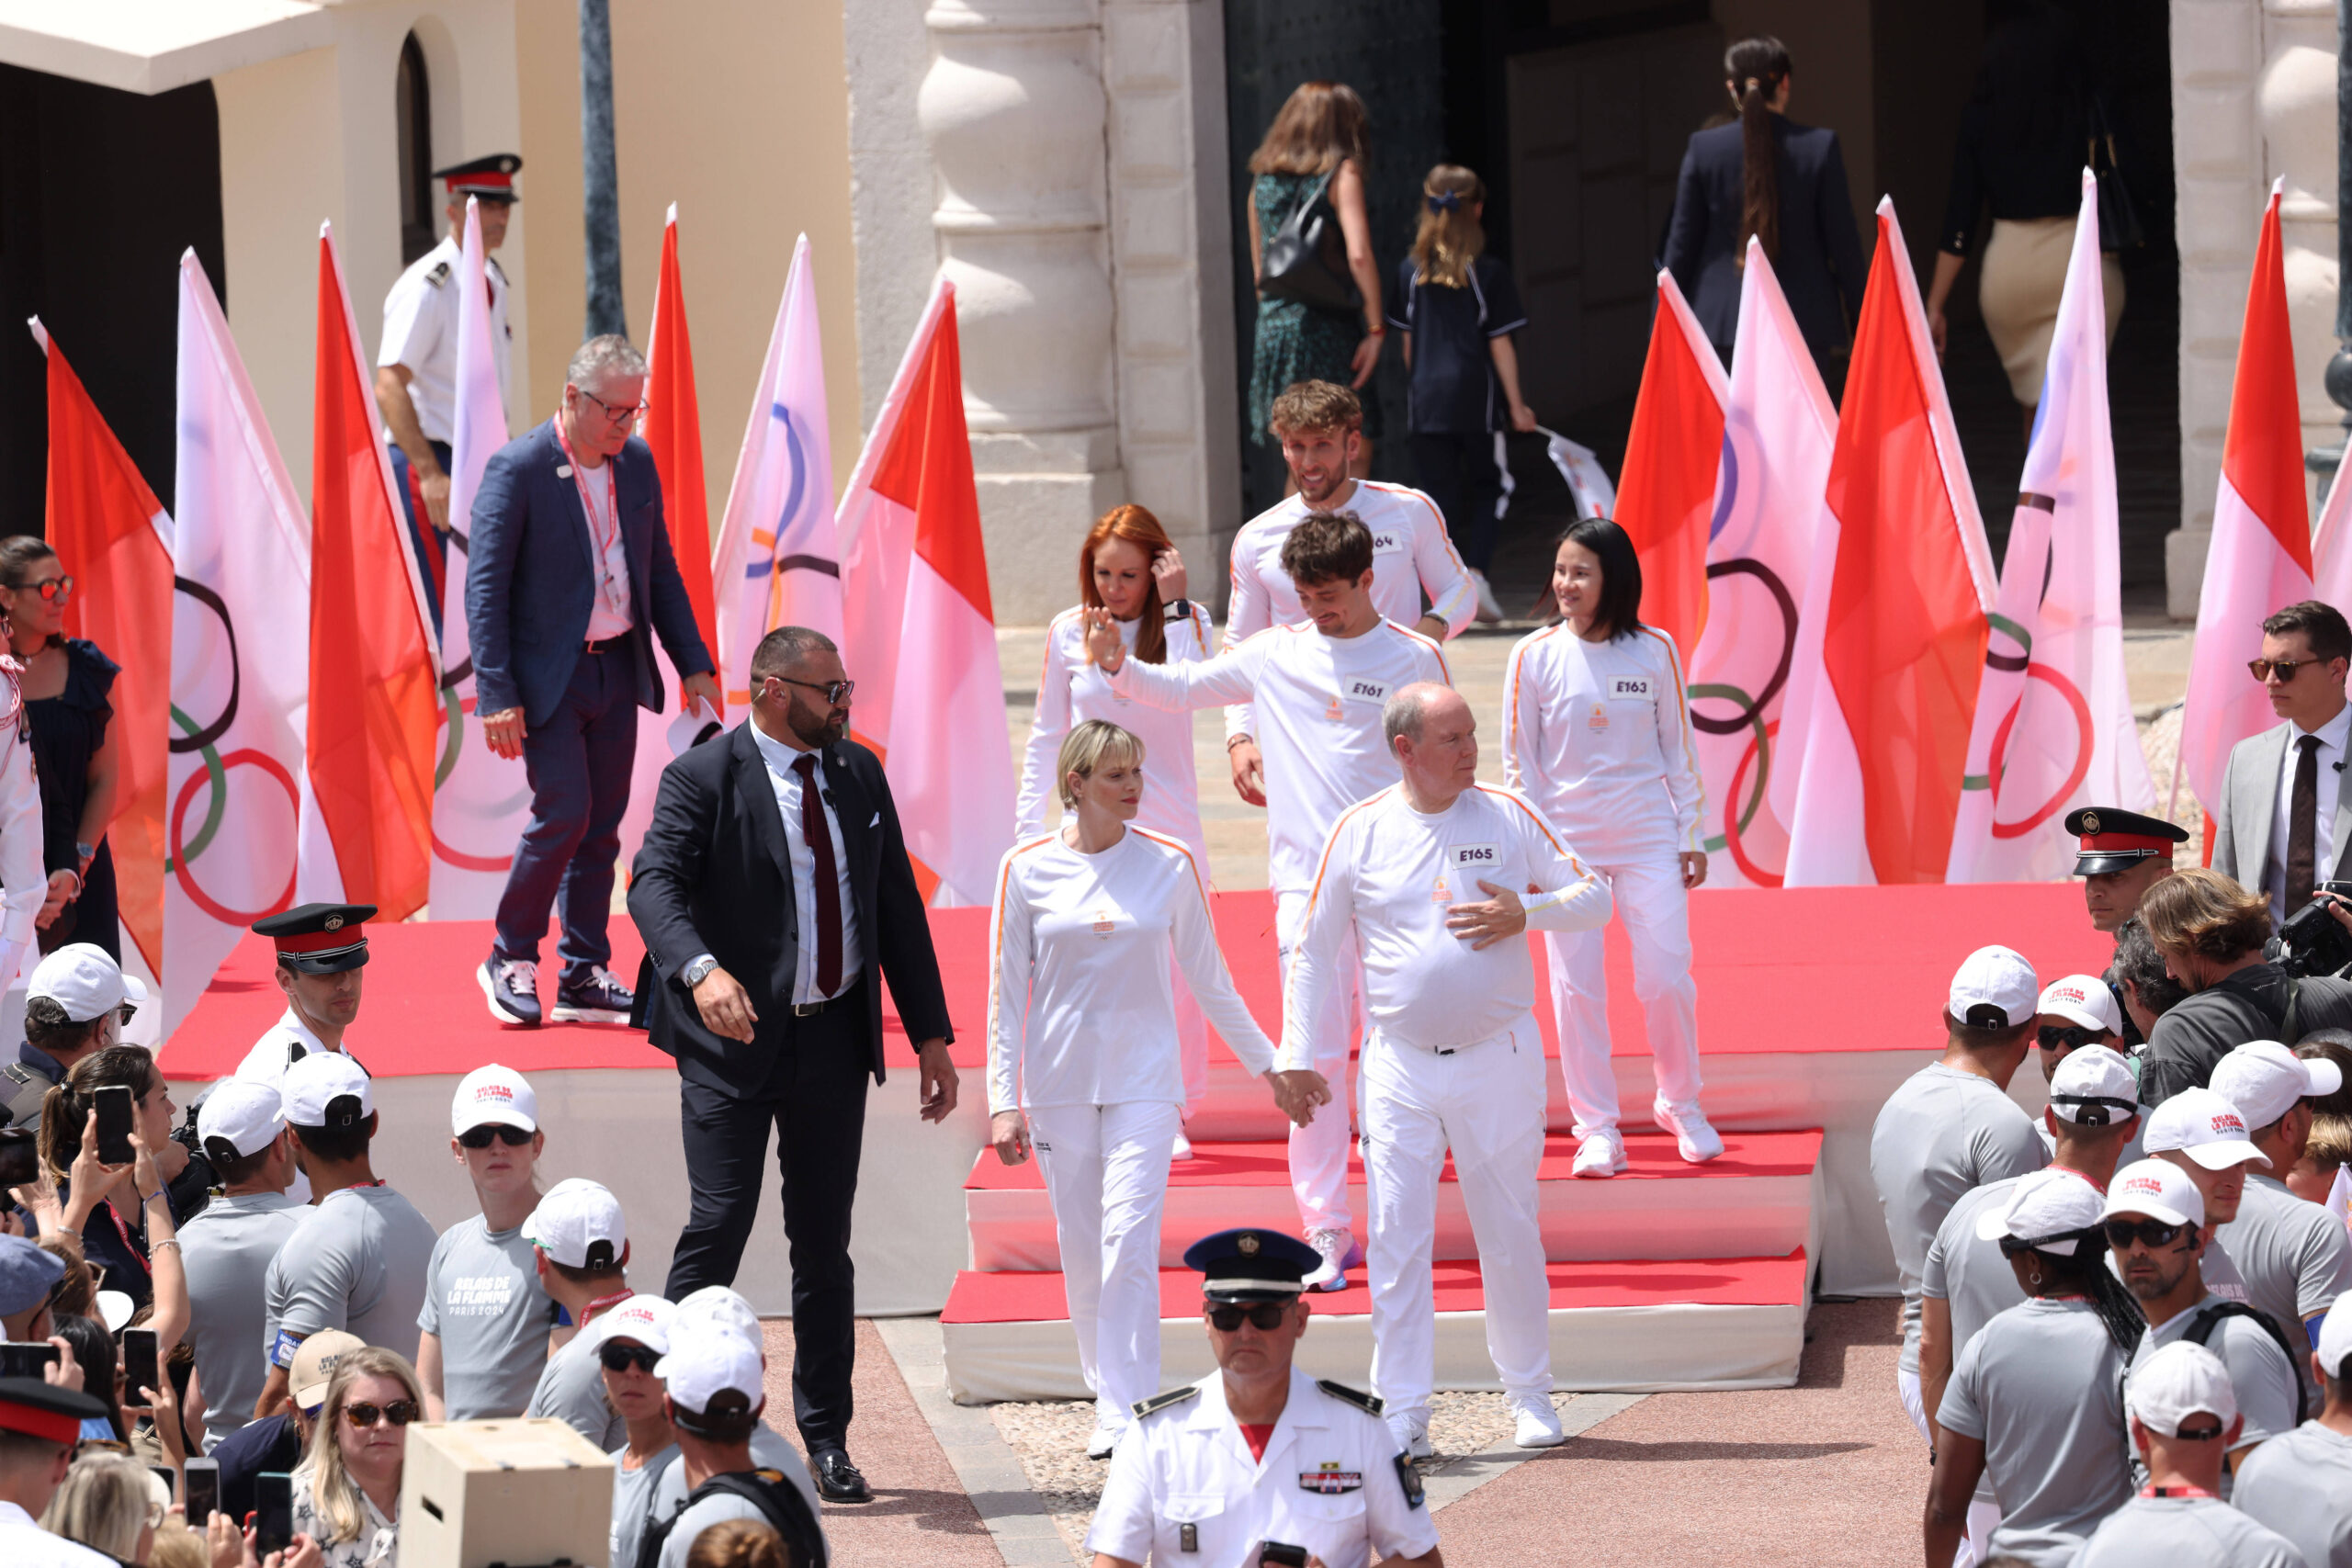
MULTIPOLYGON (((1658 1098, 1698 1105, 1698 985, 1691 980, 1691 893, 1675 858, 1592 865, 1609 882, 1632 943, 1632 992, 1649 1018, 1658 1098)), ((1616 1074, 1609 1070, 1609 971, 1602 931, 1545 931, 1559 1077, 1569 1086, 1576 1135, 1616 1133, 1616 1074)))

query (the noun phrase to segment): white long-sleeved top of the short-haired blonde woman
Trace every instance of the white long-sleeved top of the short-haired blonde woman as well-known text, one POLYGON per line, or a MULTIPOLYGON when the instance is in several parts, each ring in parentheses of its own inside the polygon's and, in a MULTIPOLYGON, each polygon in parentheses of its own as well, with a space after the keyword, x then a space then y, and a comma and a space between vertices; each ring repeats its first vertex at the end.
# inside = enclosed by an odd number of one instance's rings
POLYGON ((1169 947, 1232 1056, 1275 1046, 1216 950, 1192 851, 1141 827, 1098 856, 1058 832, 1014 844, 988 922, 988 1114, 1030 1105, 1183 1105, 1169 947))

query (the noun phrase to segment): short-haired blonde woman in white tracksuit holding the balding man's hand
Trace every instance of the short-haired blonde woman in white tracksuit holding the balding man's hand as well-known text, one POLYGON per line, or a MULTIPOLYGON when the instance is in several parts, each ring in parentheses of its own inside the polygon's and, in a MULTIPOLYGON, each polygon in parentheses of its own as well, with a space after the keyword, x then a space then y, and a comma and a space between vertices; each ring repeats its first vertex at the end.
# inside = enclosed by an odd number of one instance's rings
POLYGON ((990 919, 988 1112, 997 1159, 1037 1150, 1077 1361, 1103 1458, 1160 1392, 1160 1211, 1183 1105, 1169 952, 1202 1013, 1275 1105, 1305 1121, 1315 1072, 1277 1074, 1275 1046, 1232 990, 1192 851, 1129 827, 1143 743, 1087 719, 1061 743, 1058 832, 1014 844, 990 919))

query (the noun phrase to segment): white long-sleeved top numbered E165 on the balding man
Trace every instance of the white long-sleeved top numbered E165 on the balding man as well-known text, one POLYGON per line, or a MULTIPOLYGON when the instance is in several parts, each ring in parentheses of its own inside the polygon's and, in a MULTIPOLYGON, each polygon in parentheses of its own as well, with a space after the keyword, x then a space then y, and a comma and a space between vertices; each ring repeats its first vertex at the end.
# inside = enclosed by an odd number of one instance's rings
POLYGON ((1609 884, 1524 795, 1472 785, 1425 816, 1399 783, 1341 816, 1282 992, 1279 1065, 1315 1060, 1308 1034, 1329 1027, 1322 992, 1336 980, 1350 924, 1364 964, 1364 1013, 1383 1037, 1435 1051, 1491 1039, 1526 1018, 1536 1006, 1526 940, 1479 952, 1446 931, 1456 903, 1489 898, 1482 879, 1519 896, 1529 931, 1609 924, 1609 884))

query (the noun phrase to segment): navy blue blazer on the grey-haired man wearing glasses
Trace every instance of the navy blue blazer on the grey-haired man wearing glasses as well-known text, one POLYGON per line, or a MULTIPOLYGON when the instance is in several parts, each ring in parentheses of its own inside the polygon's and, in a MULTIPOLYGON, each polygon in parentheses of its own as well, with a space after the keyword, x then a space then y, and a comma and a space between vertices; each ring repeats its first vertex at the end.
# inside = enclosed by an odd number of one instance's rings
MULTIPOLYGON (((473 689, 480 712, 522 710, 529 729, 555 717, 595 607, 595 552, 579 484, 564 468, 555 421, 499 447, 473 496, 473 538, 466 541, 466 637, 473 642, 473 689)), ((661 480, 654 451, 635 435, 612 458, 621 541, 628 550, 637 703, 661 712, 661 679, 652 630, 680 675, 713 670, 710 649, 694 625, 687 583, 670 555, 661 522, 661 480)))

